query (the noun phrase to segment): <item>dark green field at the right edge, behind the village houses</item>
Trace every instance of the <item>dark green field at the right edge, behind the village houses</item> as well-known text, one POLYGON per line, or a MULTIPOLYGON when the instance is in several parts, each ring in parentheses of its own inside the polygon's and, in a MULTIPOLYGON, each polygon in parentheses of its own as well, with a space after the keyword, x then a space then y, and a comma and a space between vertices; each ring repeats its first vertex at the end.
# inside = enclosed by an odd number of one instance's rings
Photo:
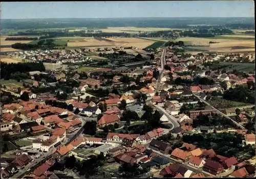
POLYGON ((232 62, 220 62, 220 65, 230 65, 231 68, 227 68, 228 70, 237 69, 238 71, 250 72, 255 70, 255 66, 253 63, 232 63, 232 62))

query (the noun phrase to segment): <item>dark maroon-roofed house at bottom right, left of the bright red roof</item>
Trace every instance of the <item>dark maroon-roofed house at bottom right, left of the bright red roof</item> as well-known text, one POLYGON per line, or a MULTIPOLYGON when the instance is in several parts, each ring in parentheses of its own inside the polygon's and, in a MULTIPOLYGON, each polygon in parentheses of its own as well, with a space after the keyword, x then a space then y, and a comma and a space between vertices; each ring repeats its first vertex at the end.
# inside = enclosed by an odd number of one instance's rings
POLYGON ((224 167, 219 162, 207 159, 203 166, 203 170, 211 174, 217 175, 224 171, 224 167))

